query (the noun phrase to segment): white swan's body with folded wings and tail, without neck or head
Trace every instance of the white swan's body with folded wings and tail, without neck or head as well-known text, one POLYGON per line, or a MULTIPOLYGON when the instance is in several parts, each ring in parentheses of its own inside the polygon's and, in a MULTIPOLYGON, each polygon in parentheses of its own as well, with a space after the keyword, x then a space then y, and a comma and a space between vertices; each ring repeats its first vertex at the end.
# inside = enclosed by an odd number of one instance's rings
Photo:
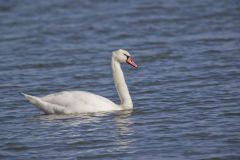
POLYGON ((47 114, 71 114, 121 110, 105 97, 85 91, 63 91, 44 97, 24 96, 47 114))

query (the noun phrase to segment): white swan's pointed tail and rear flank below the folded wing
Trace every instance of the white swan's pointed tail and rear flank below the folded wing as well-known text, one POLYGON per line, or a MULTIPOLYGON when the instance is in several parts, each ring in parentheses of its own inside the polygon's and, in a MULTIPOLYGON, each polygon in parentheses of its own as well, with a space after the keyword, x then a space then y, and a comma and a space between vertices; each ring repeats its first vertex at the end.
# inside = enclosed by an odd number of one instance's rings
POLYGON ((41 109, 46 114, 63 114, 66 113, 65 107, 43 101, 41 98, 21 93, 30 103, 41 109))

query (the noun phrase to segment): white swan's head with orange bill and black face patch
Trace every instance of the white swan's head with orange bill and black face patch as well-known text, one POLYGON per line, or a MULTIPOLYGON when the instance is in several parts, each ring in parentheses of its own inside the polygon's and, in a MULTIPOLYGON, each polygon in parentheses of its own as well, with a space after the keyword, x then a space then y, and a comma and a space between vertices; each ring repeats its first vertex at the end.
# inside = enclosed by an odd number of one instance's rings
POLYGON ((138 65, 133 61, 132 56, 130 53, 124 49, 119 49, 116 51, 113 51, 113 58, 118 61, 119 63, 127 63, 131 65, 133 68, 137 68, 138 65))

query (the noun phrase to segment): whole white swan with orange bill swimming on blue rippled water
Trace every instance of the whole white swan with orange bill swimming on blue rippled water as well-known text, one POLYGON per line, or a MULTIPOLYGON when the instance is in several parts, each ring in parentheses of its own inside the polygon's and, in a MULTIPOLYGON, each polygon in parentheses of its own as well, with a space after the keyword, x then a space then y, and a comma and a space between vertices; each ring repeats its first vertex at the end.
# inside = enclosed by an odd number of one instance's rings
POLYGON ((120 63, 128 63, 134 68, 138 67, 128 51, 119 49, 112 52, 113 79, 121 100, 120 105, 115 104, 105 97, 86 91, 63 91, 44 97, 22 94, 30 103, 46 114, 72 114, 132 109, 132 99, 120 63))

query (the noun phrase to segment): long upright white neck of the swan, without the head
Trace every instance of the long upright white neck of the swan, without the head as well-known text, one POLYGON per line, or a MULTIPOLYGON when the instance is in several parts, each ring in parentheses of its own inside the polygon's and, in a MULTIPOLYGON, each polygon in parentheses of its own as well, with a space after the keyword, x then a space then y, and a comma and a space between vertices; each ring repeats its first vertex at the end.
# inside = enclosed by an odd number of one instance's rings
POLYGON ((120 106, 124 109, 133 108, 131 96, 128 91, 127 84, 125 82, 124 74, 121 69, 120 63, 112 57, 112 70, 115 87, 118 92, 121 104, 120 106))

